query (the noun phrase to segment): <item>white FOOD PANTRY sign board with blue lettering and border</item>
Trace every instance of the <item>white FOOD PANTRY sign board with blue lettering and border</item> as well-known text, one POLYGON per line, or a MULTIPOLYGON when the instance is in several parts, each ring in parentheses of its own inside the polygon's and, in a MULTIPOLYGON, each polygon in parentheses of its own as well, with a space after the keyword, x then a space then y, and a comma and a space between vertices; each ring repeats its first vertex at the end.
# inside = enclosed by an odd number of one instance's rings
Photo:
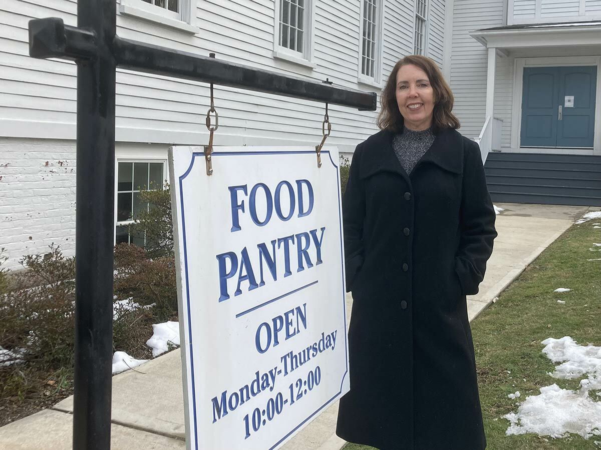
POLYGON ((275 449, 349 390, 338 151, 169 149, 188 449, 275 449))

